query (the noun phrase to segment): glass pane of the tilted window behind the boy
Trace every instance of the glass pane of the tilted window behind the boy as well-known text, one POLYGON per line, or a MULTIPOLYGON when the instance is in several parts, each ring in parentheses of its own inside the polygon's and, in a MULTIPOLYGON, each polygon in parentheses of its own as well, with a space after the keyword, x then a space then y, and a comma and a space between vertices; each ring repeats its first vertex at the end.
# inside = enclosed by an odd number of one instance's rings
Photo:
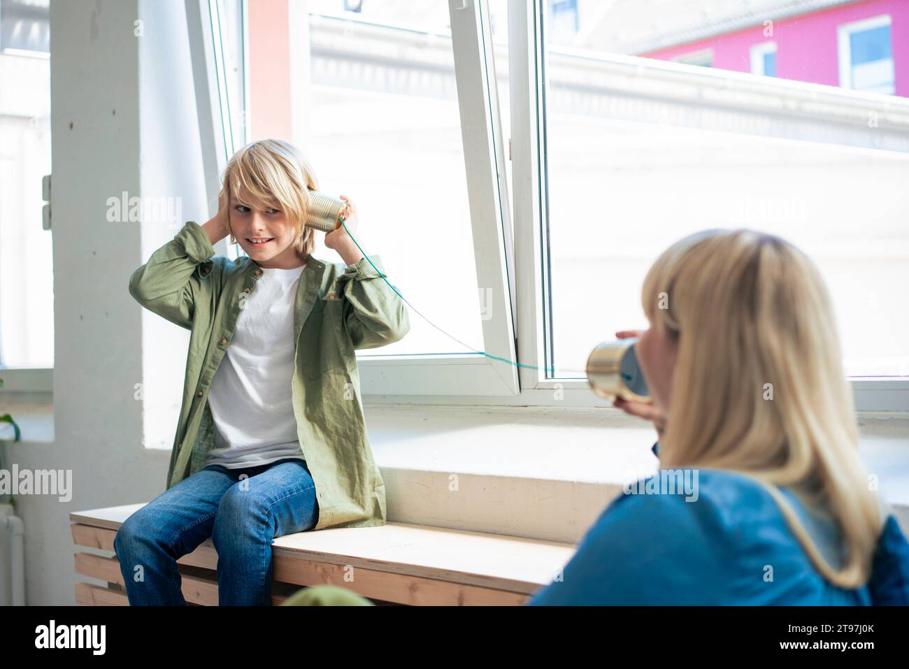
MULTIPOLYGON (((310 159, 320 190, 355 201, 355 238, 367 255, 381 256, 398 292, 483 351, 448 5, 348 5, 356 11, 345 12, 343 0, 306 4, 309 48, 300 69, 311 79, 299 96, 305 109, 293 110, 306 123, 286 138, 310 159)), ((255 25, 251 19, 250 30, 255 25)), ((250 67, 255 96, 257 77, 268 73, 255 70, 255 58, 250 67)), ((250 141, 263 137, 257 121, 254 112, 250 141)), ((316 257, 343 262, 317 237, 316 257)), ((405 339, 369 353, 471 353, 414 309, 410 315, 405 339)))

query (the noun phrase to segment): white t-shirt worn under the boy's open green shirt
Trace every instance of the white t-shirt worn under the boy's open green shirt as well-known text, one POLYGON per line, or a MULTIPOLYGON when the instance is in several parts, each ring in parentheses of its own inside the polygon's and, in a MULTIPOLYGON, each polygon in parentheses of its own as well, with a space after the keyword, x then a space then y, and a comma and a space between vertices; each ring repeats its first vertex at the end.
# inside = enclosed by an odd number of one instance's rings
POLYGON ((304 459, 291 393, 294 302, 304 268, 263 268, 246 298, 208 391, 215 446, 205 466, 235 469, 304 459))

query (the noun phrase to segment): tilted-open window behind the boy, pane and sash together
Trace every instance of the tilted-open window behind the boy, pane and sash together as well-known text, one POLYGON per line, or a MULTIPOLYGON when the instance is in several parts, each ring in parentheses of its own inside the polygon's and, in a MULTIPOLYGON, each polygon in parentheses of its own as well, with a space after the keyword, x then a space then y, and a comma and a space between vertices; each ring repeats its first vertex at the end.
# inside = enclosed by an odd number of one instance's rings
MULTIPOLYGON (((503 306, 512 299, 504 273, 514 273, 514 265, 504 267, 501 253, 510 244, 510 221, 497 93, 488 83, 494 73, 491 66, 454 67, 456 50, 464 63, 491 58, 488 7, 481 19, 467 3, 455 14, 464 25, 453 26, 447 3, 364 3, 353 13, 336 0, 310 0, 305 14, 287 4, 290 14, 281 16, 243 5, 245 141, 291 140, 322 191, 353 198, 357 241, 366 255, 381 256, 390 282, 413 306, 405 340, 358 358, 473 365, 443 387, 476 393, 486 378, 497 386, 492 394, 514 394, 514 370, 503 378, 491 362, 514 359, 502 348, 514 346, 512 310, 503 306), (285 23, 291 46, 281 54, 275 44, 284 37, 275 25, 285 23), (454 38, 457 30, 463 38, 454 38), (465 123, 473 124, 469 139, 465 123)), ((238 33, 235 19, 222 29, 238 33)), ((318 240, 316 257, 343 262, 321 245, 321 234, 318 240)), ((361 369, 368 377, 368 365, 361 369)))

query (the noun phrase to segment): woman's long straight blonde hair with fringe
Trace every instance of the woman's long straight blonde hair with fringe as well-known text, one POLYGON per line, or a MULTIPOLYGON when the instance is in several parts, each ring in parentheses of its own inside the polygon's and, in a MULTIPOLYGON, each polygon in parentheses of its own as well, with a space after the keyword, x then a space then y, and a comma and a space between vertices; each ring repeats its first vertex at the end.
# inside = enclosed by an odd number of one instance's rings
POLYGON ((811 260, 774 235, 707 230, 659 256, 642 301, 677 345, 660 466, 753 477, 829 582, 864 585, 882 508, 858 455, 833 305, 811 260), (825 562, 777 486, 833 515, 843 564, 825 562))

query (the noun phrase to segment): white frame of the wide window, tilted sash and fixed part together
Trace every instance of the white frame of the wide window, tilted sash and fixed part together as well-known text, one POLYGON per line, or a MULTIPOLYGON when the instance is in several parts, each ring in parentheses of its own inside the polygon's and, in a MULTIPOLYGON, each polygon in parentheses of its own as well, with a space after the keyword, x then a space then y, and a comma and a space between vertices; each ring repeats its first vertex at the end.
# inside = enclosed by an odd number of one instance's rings
MULTIPOLYGON (((198 4, 204 9, 208 0, 186 2, 187 8, 198 4)), ((492 304, 500 306, 492 309, 493 317, 483 323, 484 354, 358 357, 362 392, 376 404, 608 406, 591 392, 585 379, 548 378, 544 372, 544 361, 551 359, 545 353, 547 348, 552 352, 553 343, 546 335, 549 310, 544 309, 550 292, 544 243, 548 205, 544 161, 546 13, 542 0, 509 0, 508 4, 513 200, 508 197, 505 178, 488 7, 484 0, 448 3, 477 285, 491 288, 492 304), (471 132, 464 128, 471 128, 471 132), (514 245, 510 209, 514 210, 514 245), (515 266, 521 267, 520 273, 514 273, 515 266)), ((196 21, 196 32, 202 24, 196 21)), ((191 23, 191 41, 201 44, 203 37, 194 37, 193 32, 191 23)), ((211 52, 203 48, 201 53, 207 57, 211 52)), ((209 78, 201 81, 211 81, 211 70, 205 65, 203 72, 209 78)), ((704 72, 704 76, 719 74, 704 72)), ((723 75, 728 78, 734 73, 723 75)), ((205 101, 205 90, 197 93, 200 95, 205 101)), ((208 99, 215 96, 209 92, 208 99)), ((211 105, 200 109, 200 125, 209 119, 203 132, 214 133, 219 127, 215 113, 211 105)), ((214 139, 204 143, 210 153, 215 153, 216 144, 214 139)), ((209 160, 206 169, 213 165, 215 161, 209 160)), ((856 409, 909 411, 909 377, 852 377, 850 381, 856 409)))

